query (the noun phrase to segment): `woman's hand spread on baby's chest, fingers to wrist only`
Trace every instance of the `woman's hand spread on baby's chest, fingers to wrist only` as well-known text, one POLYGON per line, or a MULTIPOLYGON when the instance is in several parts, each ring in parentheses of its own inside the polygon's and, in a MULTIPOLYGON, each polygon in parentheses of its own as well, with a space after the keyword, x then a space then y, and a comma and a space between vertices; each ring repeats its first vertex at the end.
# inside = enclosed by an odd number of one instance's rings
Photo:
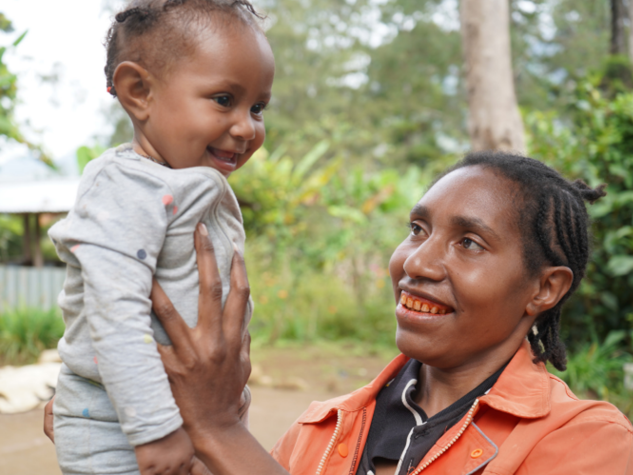
POLYGON ((251 363, 250 336, 244 329, 250 295, 244 259, 235 250, 231 288, 222 309, 222 281, 204 224, 198 225, 194 243, 200 281, 197 326, 185 324, 156 281, 151 300, 172 339, 173 346, 159 345, 158 350, 184 428, 196 446, 213 428, 240 424, 238 410, 251 363))

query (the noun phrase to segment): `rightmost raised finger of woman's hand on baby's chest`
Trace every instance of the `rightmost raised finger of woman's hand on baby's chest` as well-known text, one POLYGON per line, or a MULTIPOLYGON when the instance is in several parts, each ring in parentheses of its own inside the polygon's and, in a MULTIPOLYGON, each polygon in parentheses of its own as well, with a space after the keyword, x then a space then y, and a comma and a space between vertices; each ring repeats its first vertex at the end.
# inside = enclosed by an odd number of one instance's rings
POLYGON ((235 248, 231 265, 231 288, 224 306, 224 331, 225 337, 233 341, 237 348, 241 346, 244 336, 244 314, 250 295, 246 263, 240 251, 235 248))

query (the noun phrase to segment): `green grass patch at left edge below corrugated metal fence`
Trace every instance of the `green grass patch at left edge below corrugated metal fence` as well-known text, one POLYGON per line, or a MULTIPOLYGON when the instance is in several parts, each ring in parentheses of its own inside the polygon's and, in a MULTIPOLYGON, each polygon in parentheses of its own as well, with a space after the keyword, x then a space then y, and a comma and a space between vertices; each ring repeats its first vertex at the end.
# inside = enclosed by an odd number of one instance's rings
POLYGON ((42 350, 56 348, 64 334, 64 321, 57 308, 18 308, 0 314, 0 361, 28 364, 42 350))

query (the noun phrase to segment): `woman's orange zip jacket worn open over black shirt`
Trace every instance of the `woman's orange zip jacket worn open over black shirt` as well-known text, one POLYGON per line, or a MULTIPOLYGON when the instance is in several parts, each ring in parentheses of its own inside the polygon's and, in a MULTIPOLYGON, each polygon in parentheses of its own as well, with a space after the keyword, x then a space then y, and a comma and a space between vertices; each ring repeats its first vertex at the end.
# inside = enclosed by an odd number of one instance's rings
MULTIPOLYGON (((313 402, 272 455, 292 475, 354 475, 376 396, 408 360, 396 357, 360 390, 313 402)), ((527 341, 492 390, 429 450, 415 471, 439 474, 633 475, 633 428, 613 405, 581 401, 532 363, 527 341)))

